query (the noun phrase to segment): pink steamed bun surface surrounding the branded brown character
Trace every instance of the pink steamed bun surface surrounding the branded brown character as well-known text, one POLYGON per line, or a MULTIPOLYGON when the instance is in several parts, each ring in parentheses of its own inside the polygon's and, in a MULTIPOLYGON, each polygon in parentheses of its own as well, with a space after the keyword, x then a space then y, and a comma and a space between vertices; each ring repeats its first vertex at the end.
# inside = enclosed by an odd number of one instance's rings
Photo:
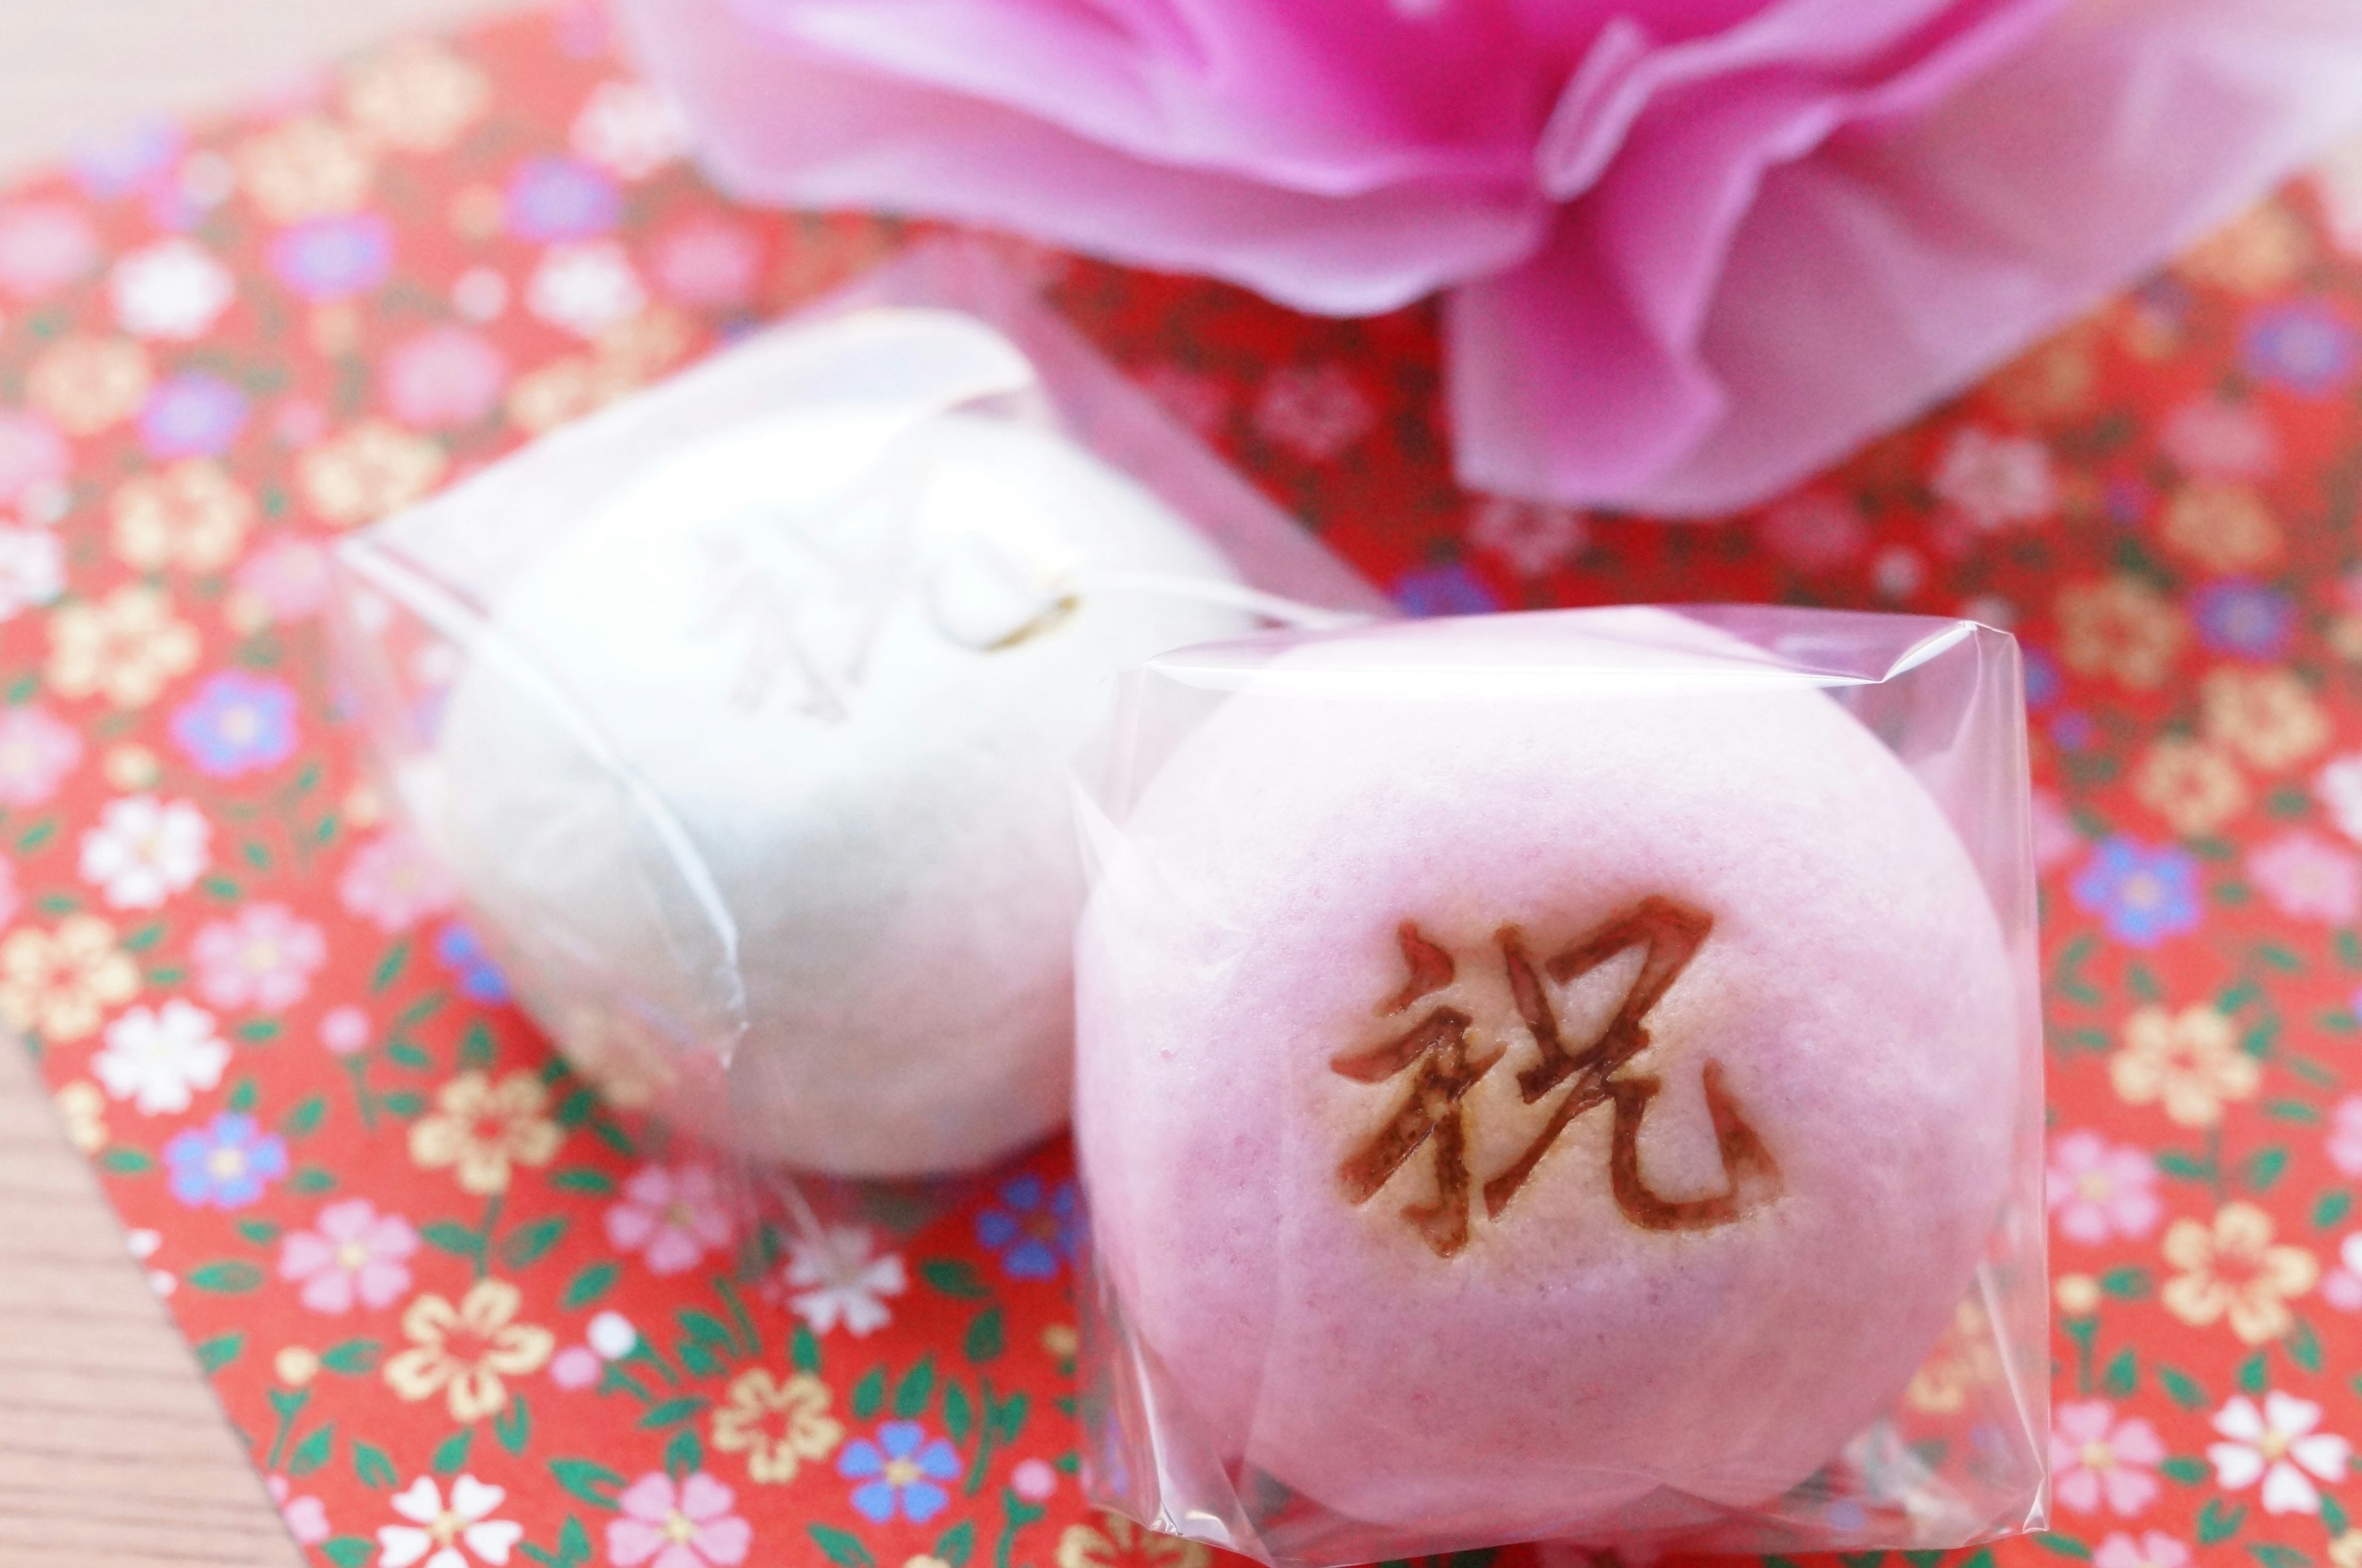
MULTIPOLYGON (((2008 1188, 2020 992, 1934 801, 1819 692, 1649 697, 1677 654, 1635 659, 1613 694, 1535 697, 1585 649, 1613 633, 1476 621, 1259 668, 1115 824, 1077 947, 1091 1233, 1202 1422, 1174 1417, 1169 1443, 1382 1525, 1351 1537, 1368 1556, 1599 1530, 1658 1485, 1774 1507, 1899 1400, 2008 1188), (1434 685, 1462 671, 1464 692, 1434 685), (1337 697, 1351 673, 1365 685, 1337 697), (1377 697, 1370 673, 1427 697, 1377 697), (1469 1060, 1507 1051, 1455 1100, 1479 1190, 1559 1103, 1519 1100, 1540 1056, 1495 933, 1514 926, 1542 963, 1649 900, 1705 930, 1630 1070, 1663 1086, 1642 1167, 1665 1193, 1731 1190, 1701 1089, 1717 1063, 1776 1164, 1746 1174, 1731 1223, 1627 1223, 1609 1108, 1571 1122, 1500 1214, 1464 1200, 1450 1256, 1403 1211, 1429 1202, 1441 1145, 1365 1202, 1339 1195, 1422 1067, 1365 1084, 1335 1058, 1443 1006, 1472 1020, 1469 1060), (1382 1018, 1401 921, 1457 973, 1382 1018), (1330 1419, 1344 1407, 1351 1426, 1330 1419)), ((1568 1051, 1635 975, 1611 963, 1557 992, 1568 1051)))

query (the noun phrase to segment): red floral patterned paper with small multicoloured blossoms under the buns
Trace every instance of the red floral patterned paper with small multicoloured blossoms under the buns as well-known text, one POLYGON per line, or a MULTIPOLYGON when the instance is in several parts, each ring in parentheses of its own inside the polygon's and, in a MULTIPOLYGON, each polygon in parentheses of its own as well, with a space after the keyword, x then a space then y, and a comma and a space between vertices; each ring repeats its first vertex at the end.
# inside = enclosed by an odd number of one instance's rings
MULTIPOLYGON (((711 1176, 503 1006, 321 666, 324 541, 900 239, 718 201, 588 9, 0 196, 0 1015, 321 1561, 1207 1559, 1077 1490, 1068 1150, 742 1282, 711 1176)), ((2015 626, 2060 1533, 1991 1556, 2362 1568, 2362 163, 1701 527, 1455 491, 1431 312, 1004 253, 1412 612, 2015 626)))

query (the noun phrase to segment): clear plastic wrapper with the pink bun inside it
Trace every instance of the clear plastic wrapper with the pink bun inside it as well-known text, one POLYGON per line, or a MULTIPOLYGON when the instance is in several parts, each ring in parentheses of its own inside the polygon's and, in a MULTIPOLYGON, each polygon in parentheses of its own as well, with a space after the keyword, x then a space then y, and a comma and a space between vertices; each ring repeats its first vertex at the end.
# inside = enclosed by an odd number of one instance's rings
POLYGON ((1082 791, 1094 1495, 1268 1563, 1956 1547, 2048 1507, 2015 642, 1264 633, 1082 791))

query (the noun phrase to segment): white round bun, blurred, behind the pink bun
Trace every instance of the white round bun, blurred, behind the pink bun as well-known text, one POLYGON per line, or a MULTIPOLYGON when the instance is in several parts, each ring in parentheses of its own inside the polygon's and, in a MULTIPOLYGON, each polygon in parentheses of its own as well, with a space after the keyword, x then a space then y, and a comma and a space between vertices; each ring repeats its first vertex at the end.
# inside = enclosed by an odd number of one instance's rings
POLYGON ((1068 1115, 1065 767, 1108 678, 1252 623, 1179 515, 1039 425, 751 420, 491 605, 430 831, 595 1077, 758 1159, 971 1169, 1068 1115))

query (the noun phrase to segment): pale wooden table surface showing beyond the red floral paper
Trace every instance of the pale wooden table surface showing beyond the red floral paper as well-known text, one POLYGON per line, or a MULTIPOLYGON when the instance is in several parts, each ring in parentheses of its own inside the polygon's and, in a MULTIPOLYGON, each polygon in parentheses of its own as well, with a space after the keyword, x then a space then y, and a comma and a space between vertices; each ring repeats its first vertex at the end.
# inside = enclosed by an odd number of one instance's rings
MULTIPOLYGON (((76 135, 487 0, 0 0, 0 184, 76 135)), ((0 1566, 293 1568, 295 1544, 33 1063, 0 1039, 0 1566)))

